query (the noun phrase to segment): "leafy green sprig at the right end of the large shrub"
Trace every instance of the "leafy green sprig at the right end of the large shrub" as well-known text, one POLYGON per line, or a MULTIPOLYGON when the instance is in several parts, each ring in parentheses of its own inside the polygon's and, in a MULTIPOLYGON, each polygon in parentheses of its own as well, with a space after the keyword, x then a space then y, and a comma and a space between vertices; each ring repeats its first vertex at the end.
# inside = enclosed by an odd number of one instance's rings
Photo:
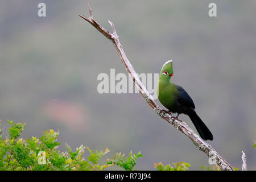
POLYGON ((130 151, 129 156, 125 157, 125 154, 122 154, 121 152, 119 153, 115 153, 115 156, 108 160, 108 164, 113 164, 113 165, 117 165, 127 171, 132 171, 135 164, 136 164, 136 160, 138 158, 141 158, 143 155, 141 154, 141 152, 138 152, 138 154, 133 154, 132 151, 130 151))

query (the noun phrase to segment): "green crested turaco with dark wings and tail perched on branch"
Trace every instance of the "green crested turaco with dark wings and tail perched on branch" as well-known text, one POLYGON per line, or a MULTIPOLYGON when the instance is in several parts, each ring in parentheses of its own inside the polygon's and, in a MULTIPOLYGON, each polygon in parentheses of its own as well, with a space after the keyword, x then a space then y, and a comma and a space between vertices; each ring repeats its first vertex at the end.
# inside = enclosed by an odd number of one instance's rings
MULTIPOLYGON (((187 114, 196 127, 200 137, 204 140, 213 140, 213 135, 208 127, 199 118, 195 111, 195 104, 188 93, 179 85, 171 82, 172 60, 164 63, 158 81, 158 99, 171 113, 187 114)), ((176 117, 176 118, 177 118, 176 117)))

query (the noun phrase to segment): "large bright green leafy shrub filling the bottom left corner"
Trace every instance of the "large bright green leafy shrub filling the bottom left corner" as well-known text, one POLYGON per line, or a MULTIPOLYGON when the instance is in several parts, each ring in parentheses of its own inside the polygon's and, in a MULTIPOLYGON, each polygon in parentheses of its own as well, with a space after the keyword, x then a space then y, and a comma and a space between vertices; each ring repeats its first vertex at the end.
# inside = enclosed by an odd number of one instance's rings
POLYGON ((86 147, 89 156, 85 159, 82 156, 85 147, 82 145, 75 151, 72 151, 68 144, 65 144, 67 152, 57 150, 60 145, 57 142, 59 131, 46 130, 39 138, 22 139, 19 137, 26 123, 13 123, 9 120, 7 122, 10 128, 6 139, 3 139, 2 129, 0 129, 0 171, 103 170, 113 165, 131 170, 136 160, 142 156, 140 152, 138 154, 131 152, 127 159, 121 159, 115 155, 113 159, 120 159, 117 163, 114 160, 108 160, 108 163, 100 165, 98 162, 102 156, 110 152, 108 148, 105 151, 92 151, 86 147))

